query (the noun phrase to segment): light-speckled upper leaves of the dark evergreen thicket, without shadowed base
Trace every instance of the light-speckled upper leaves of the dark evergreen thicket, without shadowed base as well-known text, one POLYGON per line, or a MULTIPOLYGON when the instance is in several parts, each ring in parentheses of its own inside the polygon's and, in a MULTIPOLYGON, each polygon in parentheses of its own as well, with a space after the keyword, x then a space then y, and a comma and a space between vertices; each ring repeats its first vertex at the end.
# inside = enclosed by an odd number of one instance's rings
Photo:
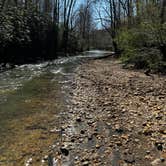
POLYGON ((29 11, 18 7, 1 12, 0 20, 0 42, 3 45, 9 42, 28 43, 34 38, 32 34, 36 37, 45 35, 51 22, 49 17, 33 9, 29 11))

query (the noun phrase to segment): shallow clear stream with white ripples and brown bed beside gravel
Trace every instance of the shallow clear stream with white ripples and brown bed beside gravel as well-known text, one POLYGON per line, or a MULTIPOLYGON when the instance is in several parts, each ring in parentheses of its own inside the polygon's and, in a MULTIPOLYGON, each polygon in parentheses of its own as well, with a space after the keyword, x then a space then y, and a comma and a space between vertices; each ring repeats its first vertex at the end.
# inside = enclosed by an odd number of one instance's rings
POLYGON ((41 159, 60 140, 60 114, 75 68, 108 54, 88 51, 0 73, 0 166, 28 166, 31 157, 35 166, 44 165, 41 159))

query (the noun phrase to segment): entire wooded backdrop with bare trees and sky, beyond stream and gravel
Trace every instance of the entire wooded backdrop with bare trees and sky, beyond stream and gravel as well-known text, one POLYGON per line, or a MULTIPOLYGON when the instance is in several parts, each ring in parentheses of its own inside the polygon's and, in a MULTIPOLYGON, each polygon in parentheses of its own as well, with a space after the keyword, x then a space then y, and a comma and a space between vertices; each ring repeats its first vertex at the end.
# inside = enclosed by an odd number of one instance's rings
POLYGON ((166 0, 79 2, 0 0, 0 63, 31 63, 95 47, 114 49, 126 65, 166 72, 166 0), (97 30, 96 20, 103 29, 97 30))

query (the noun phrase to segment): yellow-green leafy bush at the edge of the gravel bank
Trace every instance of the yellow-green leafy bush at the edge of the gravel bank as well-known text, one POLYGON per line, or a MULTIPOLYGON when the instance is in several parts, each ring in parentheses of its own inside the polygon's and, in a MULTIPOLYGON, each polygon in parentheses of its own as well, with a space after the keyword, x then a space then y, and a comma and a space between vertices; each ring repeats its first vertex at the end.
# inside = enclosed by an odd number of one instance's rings
POLYGON ((143 22, 131 29, 123 28, 118 32, 116 42, 125 66, 132 64, 137 69, 166 72, 162 51, 166 46, 166 24, 143 22))

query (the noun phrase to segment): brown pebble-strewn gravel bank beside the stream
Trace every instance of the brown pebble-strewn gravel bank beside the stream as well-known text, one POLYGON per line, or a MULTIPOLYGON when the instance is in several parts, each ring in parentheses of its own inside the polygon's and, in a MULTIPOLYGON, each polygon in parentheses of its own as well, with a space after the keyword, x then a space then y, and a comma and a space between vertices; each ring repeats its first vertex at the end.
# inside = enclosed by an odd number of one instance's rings
POLYGON ((76 70, 72 88, 63 165, 166 165, 166 77, 96 60, 76 70))

